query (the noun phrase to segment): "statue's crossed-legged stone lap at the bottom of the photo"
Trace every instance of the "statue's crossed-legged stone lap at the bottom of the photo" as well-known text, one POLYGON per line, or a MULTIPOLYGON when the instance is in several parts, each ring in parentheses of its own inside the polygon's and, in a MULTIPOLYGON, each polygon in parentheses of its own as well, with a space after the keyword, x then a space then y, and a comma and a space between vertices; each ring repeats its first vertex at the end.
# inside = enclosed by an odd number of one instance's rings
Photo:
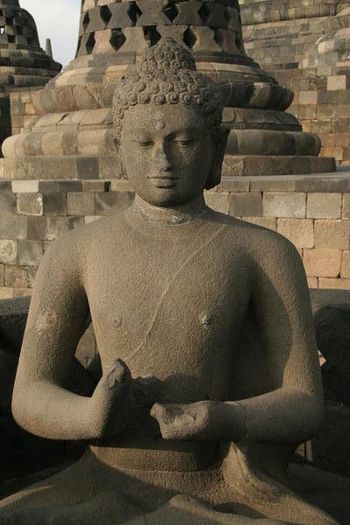
MULTIPOLYGON (((169 460, 171 457, 174 458, 172 453, 169 460)), ((93 520, 98 509, 101 523, 108 519, 106 523, 111 524, 113 520, 122 523, 120 519, 129 521, 163 510, 169 515, 169 508, 174 508, 177 516, 174 519, 183 517, 189 520, 183 523, 189 525, 197 523, 196 516, 212 519, 208 521, 210 524, 253 524, 256 522, 253 517, 258 518, 259 513, 253 511, 244 499, 227 485, 220 467, 192 472, 112 469, 96 460, 95 454, 88 450, 80 461, 56 476, 4 499, 0 503, 0 523, 5 517, 17 518, 18 513, 24 520, 38 518, 38 523, 44 525, 48 523, 48 516, 57 514, 59 519, 67 519, 70 525, 80 523, 74 521, 77 512, 81 513, 80 518, 86 512, 84 524, 92 525, 96 523, 93 520), (217 521, 218 513, 222 514, 223 521, 217 521), (251 516, 252 519, 242 516, 251 516)), ((18 523, 22 525, 21 521, 18 523)), ((282 522, 266 520, 266 524, 270 523, 282 522)))

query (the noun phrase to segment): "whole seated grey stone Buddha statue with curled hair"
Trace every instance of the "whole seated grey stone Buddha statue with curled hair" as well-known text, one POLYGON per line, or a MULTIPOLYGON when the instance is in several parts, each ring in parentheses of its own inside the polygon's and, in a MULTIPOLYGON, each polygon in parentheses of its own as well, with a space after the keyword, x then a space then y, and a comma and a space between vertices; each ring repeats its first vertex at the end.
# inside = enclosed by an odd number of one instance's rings
POLYGON ((89 446, 4 499, 0 523, 336 524, 286 481, 323 420, 299 255, 204 202, 227 137, 218 92, 163 39, 113 112, 135 201, 47 251, 12 403, 29 432, 89 446), (89 313, 102 376, 83 397, 67 380, 89 313))

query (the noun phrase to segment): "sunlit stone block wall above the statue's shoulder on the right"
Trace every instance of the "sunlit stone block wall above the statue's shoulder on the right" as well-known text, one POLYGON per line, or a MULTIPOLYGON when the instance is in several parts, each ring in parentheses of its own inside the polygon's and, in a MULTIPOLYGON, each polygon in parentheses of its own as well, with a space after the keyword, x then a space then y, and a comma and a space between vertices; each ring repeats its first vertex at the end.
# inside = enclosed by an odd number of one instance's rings
POLYGON ((287 237, 310 288, 350 289, 350 176, 224 180, 210 206, 287 237))

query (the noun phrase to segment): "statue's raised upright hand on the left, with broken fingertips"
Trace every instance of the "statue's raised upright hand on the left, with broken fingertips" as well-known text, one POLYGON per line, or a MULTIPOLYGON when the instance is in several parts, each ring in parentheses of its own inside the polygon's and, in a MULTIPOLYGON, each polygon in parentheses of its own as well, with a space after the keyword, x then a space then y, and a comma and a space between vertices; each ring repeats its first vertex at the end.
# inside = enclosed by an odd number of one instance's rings
POLYGON ((92 434, 114 436, 124 430, 132 412, 132 379, 127 365, 118 359, 100 379, 91 398, 92 434))

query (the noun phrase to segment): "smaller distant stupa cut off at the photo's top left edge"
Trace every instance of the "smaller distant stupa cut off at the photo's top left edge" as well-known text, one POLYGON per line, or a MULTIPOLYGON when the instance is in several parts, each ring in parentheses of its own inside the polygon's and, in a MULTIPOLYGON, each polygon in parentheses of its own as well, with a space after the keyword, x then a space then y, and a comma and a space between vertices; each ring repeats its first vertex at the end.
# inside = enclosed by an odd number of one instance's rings
POLYGON ((0 0, 0 145, 12 130, 9 93, 44 86, 60 70, 40 48, 33 17, 18 0, 0 0))

